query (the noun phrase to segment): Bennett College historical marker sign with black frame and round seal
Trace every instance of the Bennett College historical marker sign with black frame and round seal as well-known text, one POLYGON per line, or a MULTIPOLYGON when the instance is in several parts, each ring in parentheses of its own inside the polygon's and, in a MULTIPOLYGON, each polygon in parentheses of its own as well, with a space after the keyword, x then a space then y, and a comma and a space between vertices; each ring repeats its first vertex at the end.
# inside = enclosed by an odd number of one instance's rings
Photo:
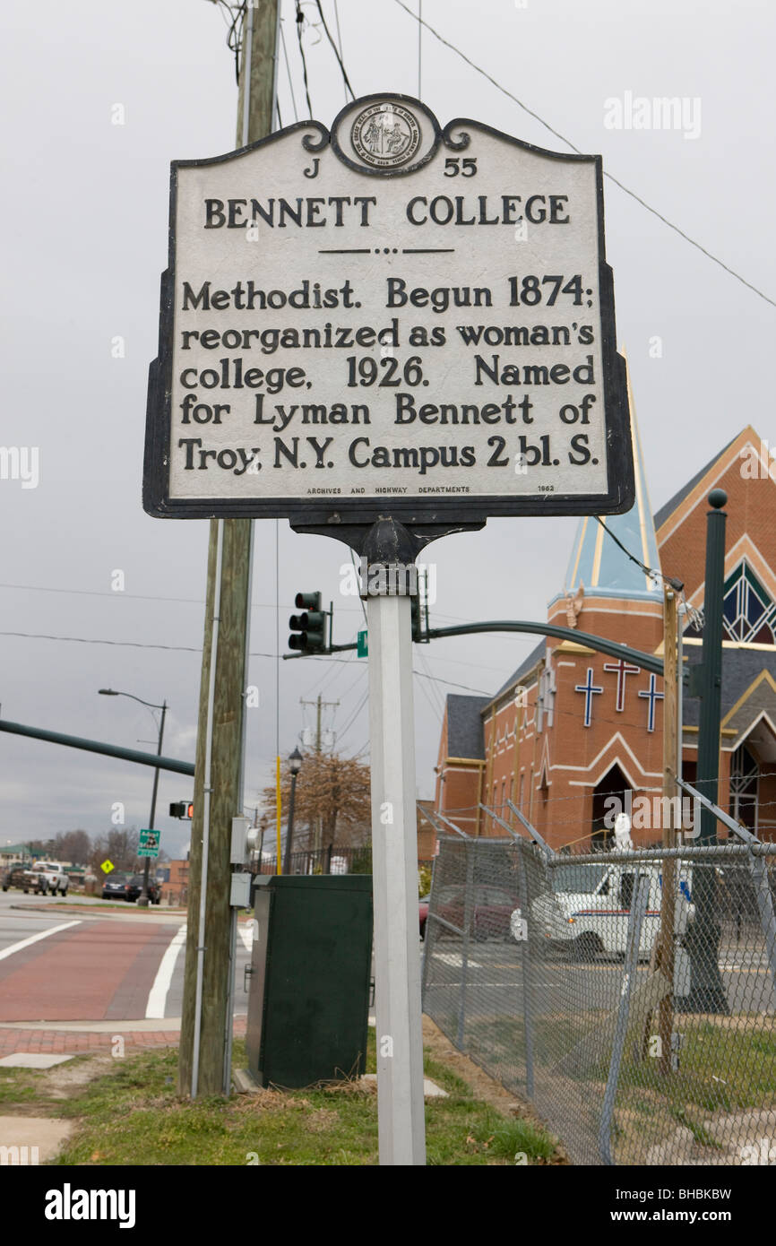
POLYGON ((627 510, 598 156, 367 96, 172 166, 144 507, 405 523, 627 510))

